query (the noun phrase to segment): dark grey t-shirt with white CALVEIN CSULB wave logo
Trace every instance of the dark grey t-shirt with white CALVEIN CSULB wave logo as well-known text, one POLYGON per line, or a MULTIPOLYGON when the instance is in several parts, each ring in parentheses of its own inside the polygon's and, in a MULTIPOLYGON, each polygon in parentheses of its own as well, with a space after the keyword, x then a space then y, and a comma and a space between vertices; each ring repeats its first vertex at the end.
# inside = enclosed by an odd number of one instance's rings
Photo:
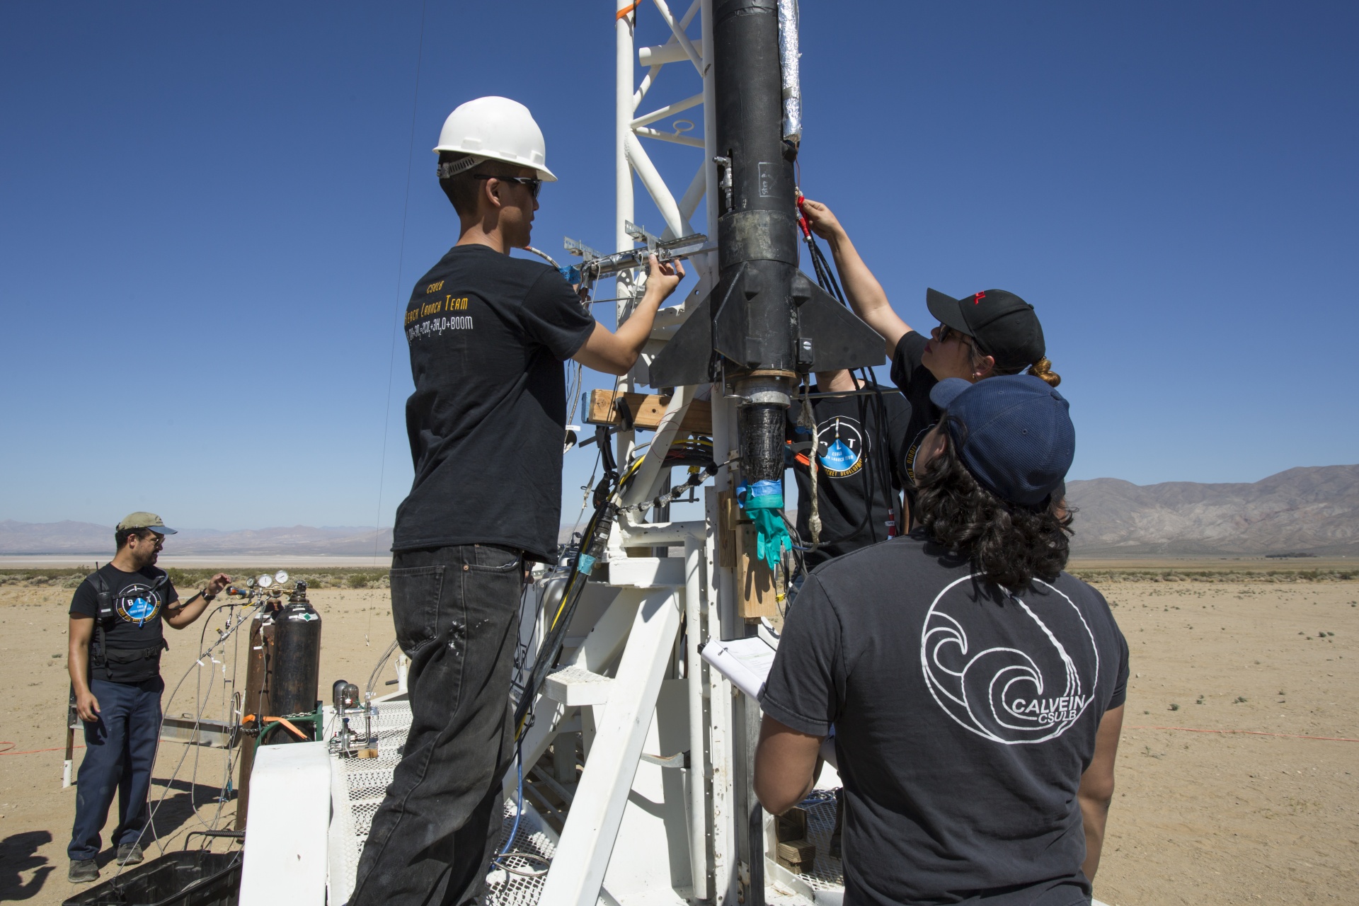
POLYGON ((761 705, 836 728, 845 903, 1068 906, 1090 895, 1076 789, 1127 682, 1098 591, 1011 598, 916 531, 807 577, 761 705))

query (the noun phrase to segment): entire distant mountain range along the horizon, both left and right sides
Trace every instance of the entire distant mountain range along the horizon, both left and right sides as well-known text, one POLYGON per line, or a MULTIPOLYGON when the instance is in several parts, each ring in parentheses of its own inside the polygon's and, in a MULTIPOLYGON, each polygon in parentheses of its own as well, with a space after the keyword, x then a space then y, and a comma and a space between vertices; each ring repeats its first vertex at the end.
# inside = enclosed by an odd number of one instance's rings
MULTIPOLYGON (((1072 551, 1082 557, 1359 556, 1359 466, 1290 469, 1234 485, 1094 478, 1067 482, 1067 500, 1079 511, 1072 551)), ((170 553, 367 557, 376 546, 385 554, 391 530, 376 532, 376 539, 374 534, 361 526, 186 528, 174 537, 170 553)), ((0 554, 109 554, 111 549, 111 526, 0 522, 0 554)))

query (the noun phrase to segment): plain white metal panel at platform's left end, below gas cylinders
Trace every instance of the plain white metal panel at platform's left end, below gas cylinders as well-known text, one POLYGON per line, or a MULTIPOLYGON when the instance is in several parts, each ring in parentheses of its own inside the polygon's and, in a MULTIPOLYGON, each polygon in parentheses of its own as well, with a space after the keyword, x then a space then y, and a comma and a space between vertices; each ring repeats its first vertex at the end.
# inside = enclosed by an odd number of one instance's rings
POLYGON ((250 772, 241 906, 325 906, 330 826, 326 743, 261 746, 250 772))

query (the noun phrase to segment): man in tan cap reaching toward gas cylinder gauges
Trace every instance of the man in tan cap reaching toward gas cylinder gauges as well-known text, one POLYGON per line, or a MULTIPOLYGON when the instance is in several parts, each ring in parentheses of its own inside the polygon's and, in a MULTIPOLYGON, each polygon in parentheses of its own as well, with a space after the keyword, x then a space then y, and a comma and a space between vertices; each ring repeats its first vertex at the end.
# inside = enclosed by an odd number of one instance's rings
POLYGON ((118 826, 110 842, 118 863, 141 861, 151 766, 160 735, 160 652, 169 648, 162 622, 183 629, 208 607, 231 576, 217 573, 179 602, 156 556, 167 528, 160 516, 135 512, 118 523, 113 561, 90 573, 71 599, 67 668, 84 721, 86 755, 76 776, 76 820, 68 877, 99 877, 99 829, 118 792, 118 826))

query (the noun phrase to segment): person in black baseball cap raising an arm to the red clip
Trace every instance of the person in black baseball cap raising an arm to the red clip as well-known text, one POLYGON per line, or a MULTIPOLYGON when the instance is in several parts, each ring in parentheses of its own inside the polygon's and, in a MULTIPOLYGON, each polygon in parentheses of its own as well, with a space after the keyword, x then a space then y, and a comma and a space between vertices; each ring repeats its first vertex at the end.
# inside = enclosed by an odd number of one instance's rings
POLYGON ((1038 315, 1015 293, 984 289, 954 299, 938 289, 925 289, 925 307, 939 321, 939 326, 925 337, 893 310, 882 284, 859 257, 830 208, 806 200, 803 213, 811 230, 830 244, 855 314, 886 342, 887 356, 892 357, 892 382, 911 402, 908 471, 925 431, 939 421, 939 407, 931 401, 930 391, 945 378, 976 383, 1026 371, 1052 387, 1061 383, 1061 376, 1052 371, 1048 361, 1038 315))

